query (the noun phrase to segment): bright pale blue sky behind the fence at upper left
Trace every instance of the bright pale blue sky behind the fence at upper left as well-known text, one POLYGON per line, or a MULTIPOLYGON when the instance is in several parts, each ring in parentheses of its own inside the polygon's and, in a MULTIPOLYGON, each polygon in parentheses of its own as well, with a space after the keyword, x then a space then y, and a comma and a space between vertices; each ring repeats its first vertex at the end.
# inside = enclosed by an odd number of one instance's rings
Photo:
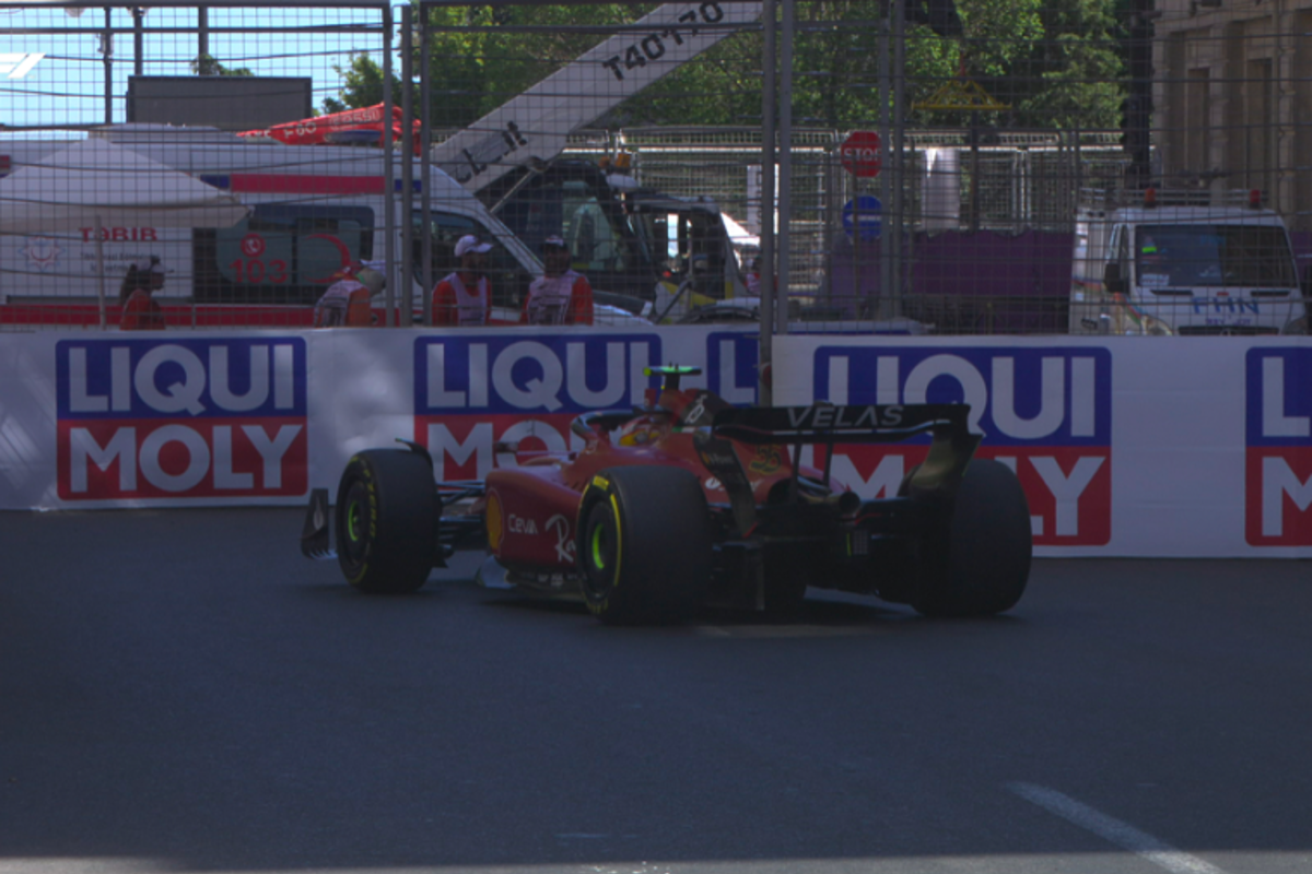
MULTIPOLYGON (((127 8, 110 10, 114 28, 131 30, 127 8)), ((210 9, 209 54, 226 67, 247 67, 262 76, 310 76, 314 105, 336 97, 341 77, 333 67, 346 67, 353 52, 378 56, 382 38, 378 9, 237 8, 210 9), (374 33, 340 33, 348 25, 371 25, 374 33), (248 33, 222 33, 224 29, 248 33), (294 29, 279 33, 276 29, 294 29)), ((197 10, 150 9, 143 18, 143 73, 147 76, 193 75, 197 10), (160 33, 161 30, 189 33, 160 33), (152 33, 152 30, 155 33, 152 33)), ((63 9, 0 9, 0 138, 20 135, 14 127, 89 126, 106 122, 105 63, 101 54, 104 8, 87 9, 79 17, 63 9), (72 29, 73 33, 55 33, 72 29), (97 30, 98 29, 98 30, 97 30), (16 30, 26 33, 13 33, 16 30), (43 55, 33 64, 33 55, 43 55)), ((126 121, 127 80, 134 69, 131 33, 113 37, 113 86, 109 115, 126 121)), ((294 121, 294 119, 286 119, 294 121)), ((253 126, 252 126, 253 127, 253 126)), ((33 136, 31 131, 21 132, 33 136)), ((42 136, 45 134, 41 134, 42 136)))

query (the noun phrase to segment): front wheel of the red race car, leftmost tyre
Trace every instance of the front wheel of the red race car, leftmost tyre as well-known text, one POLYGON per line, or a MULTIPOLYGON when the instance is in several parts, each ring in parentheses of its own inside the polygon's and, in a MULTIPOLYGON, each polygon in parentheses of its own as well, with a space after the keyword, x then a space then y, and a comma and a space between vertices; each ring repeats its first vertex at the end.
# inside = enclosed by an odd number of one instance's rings
POLYGON ((337 485, 337 561, 362 592, 413 592, 437 549, 437 487, 409 449, 357 452, 337 485))

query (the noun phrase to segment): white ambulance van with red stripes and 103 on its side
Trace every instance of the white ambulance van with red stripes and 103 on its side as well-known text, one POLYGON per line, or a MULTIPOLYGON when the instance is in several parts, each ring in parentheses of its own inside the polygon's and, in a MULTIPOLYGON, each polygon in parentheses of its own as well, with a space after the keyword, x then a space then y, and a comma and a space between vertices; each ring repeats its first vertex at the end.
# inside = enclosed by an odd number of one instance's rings
MULTIPOLYGON (((308 308, 332 282, 333 274, 356 261, 383 262, 387 254, 387 197, 383 155, 378 149, 321 145, 298 148, 252 144, 215 128, 159 124, 117 124, 98 128, 104 136, 155 161, 182 170, 236 194, 252 207, 239 224, 223 229, 152 227, 96 229, 62 235, 0 236, 0 304, 62 304, 70 312, 93 308, 97 265, 105 263, 109 296, 117 301, 127 265, 157 256, 172 273, 156 292, 160 303, 197 304, 209 314, 270 304, 308 308)), ((66 147, 58 140, 0 142, 0 166, 12 170, 39 161, 66 147)), ((394 160, 394 253, 403 257, 401 157, 394 160)), ((421 240, 421 172, 415 169, 411 223, 421 240)), ((433 278, 455 267, 454 245, 472 233, 492 244, 489 274, 493 304, 517 316, 516 305, 534 275, 538 257, 461 185, 441 170, 430 170, 433 278)), ((411 253, 415 265, 415 308, 422 311, 421 244, 411 253)), ((396 270, 400 276, 400 270, 396 270)), ((375 305, 380 305, 375 300, 375 305)), ((400 295, 395 303, 400 305, 400 295)), ((306 312, 308 318, 308 312, 306 312)), ((88 322, 92 324, 92 322, 88 322)))

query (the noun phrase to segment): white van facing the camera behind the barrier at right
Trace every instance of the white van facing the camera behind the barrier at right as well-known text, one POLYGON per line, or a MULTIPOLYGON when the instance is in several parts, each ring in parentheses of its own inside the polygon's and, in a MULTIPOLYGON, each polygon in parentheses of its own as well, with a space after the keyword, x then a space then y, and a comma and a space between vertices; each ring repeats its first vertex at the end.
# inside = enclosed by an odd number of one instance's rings
POLYGON ((1308 318, 1290 236, 1260 193, 1136 206, 1085 193, 1076 215, 1073 334, 1305 334, 1308 318))

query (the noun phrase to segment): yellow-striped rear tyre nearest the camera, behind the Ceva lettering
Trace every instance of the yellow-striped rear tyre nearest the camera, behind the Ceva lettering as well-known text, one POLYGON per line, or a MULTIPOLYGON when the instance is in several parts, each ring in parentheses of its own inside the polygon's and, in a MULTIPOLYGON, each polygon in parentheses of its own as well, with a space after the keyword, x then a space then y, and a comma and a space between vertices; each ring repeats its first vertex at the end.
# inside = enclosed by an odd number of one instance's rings
POLYGON ((706 495, 682 468, 611 468, 584 494, 579 563, 604 622, 686 620, 711 575, 706 495))

